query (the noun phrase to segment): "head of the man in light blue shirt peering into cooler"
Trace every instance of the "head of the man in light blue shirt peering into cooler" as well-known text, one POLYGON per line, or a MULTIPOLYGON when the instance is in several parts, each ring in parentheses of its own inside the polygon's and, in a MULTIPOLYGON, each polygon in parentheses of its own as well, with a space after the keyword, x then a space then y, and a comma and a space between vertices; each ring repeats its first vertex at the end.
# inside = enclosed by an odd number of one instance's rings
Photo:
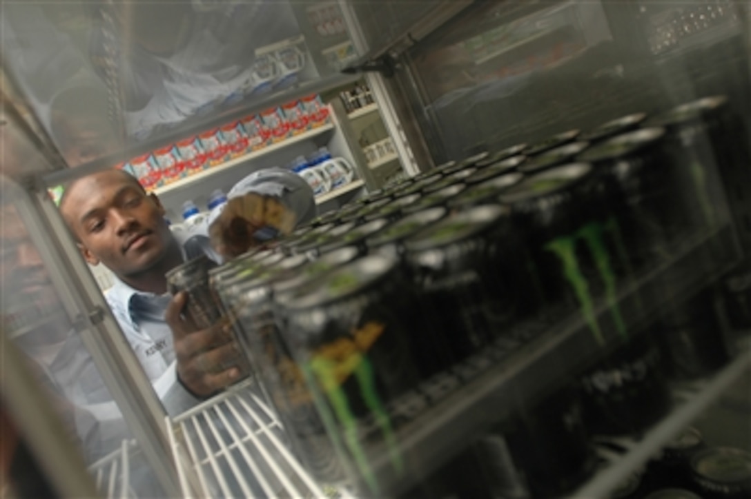
POLYGON ((119 170, 75 182, 61 209, 86 261, 104 263, 120 277, 139 275, 161 262, 172 240, 157 197, 119 170))

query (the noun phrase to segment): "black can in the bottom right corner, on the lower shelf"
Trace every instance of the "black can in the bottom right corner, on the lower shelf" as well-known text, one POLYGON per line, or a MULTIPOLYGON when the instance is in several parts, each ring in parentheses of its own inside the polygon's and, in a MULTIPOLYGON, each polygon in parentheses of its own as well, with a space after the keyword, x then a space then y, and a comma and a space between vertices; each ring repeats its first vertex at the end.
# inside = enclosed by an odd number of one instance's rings
POLYGON ((713 447, 691 460, 694 484, 705 499, 751 497, 751 454, 741 449, 713 447))

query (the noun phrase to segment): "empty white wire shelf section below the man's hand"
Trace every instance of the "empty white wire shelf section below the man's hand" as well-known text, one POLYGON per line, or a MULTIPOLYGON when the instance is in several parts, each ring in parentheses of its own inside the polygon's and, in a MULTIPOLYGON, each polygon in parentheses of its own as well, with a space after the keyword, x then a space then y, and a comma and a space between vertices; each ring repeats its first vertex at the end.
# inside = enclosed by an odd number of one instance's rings
POLYGON ((185 496, 194 495, 197 478, 200 497, 345 497, 318 485, 292 455, 253 380, 181 414, 170 429, 176 458, 189 455, 187 462, 178 459, 185 496))

